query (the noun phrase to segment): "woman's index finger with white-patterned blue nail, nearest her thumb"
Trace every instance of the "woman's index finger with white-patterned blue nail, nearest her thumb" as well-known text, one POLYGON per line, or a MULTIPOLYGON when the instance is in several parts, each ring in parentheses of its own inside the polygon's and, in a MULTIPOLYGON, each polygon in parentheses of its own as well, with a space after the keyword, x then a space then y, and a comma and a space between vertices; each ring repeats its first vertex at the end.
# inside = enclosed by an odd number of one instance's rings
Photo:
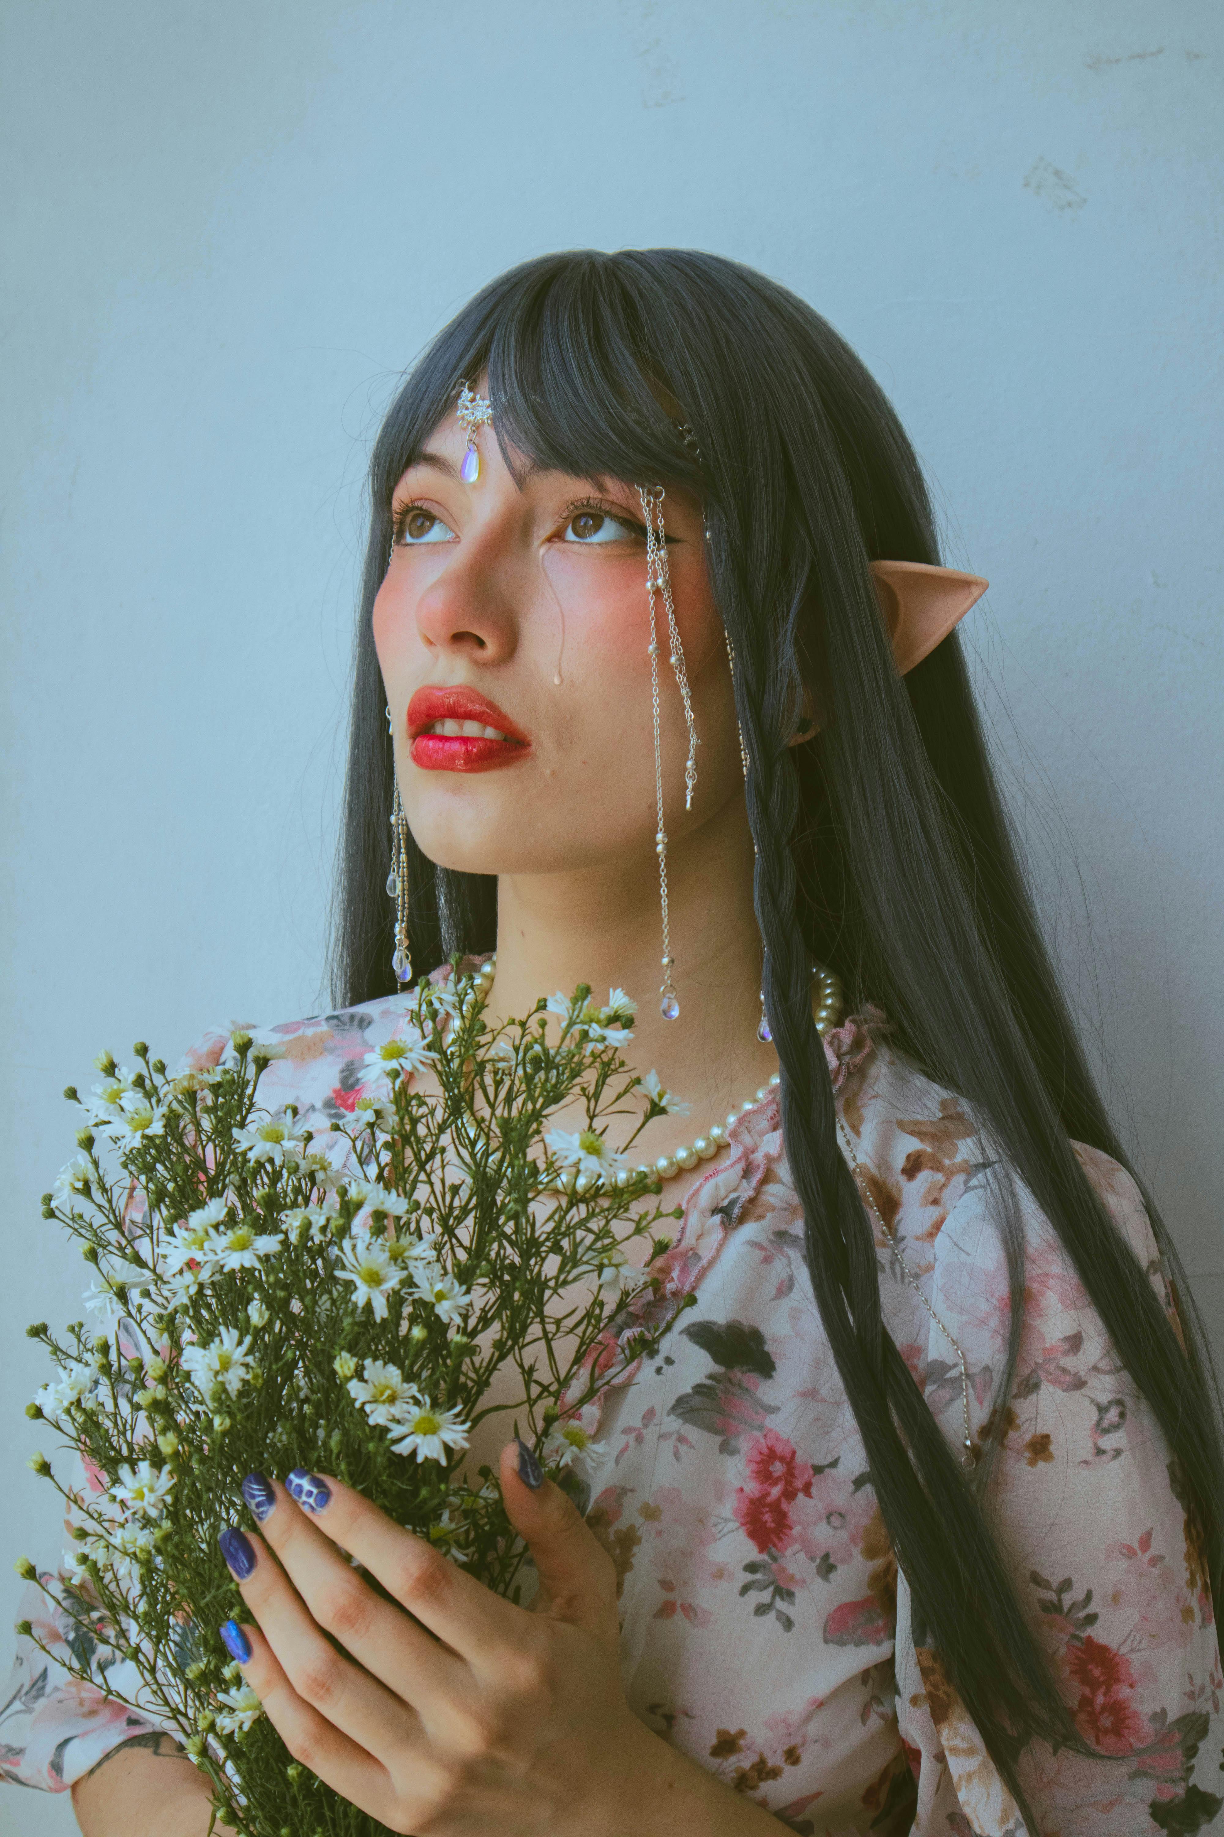
MULTIPOLYGON (((351 1550, 387 1595, 468 1664, 479 1664, 516 1637, 521 1607, 466 1576, 424 1538, 395 1525, 351 1486, 303 1470, 290 1473, 284 1486, 312 1525, 351 1550)), ((437 1646, 431 1650, 439 1651, 437 1646)))

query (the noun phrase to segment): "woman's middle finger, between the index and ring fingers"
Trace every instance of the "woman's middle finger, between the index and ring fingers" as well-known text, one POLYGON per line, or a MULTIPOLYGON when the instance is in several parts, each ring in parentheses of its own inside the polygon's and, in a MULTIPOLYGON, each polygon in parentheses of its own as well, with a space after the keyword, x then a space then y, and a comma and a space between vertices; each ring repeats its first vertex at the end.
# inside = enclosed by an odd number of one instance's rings
MULTIPOLYGON (((316 1514, 299 1508, 284 1486, 266 1481, 262 1473, 248 1473, 242 1495, 310 1617, 373 1677, 417 1708, 440 1705, 462 1688, 461 1661, 362 1582, 352 1563, 323 1536, 316 1514)), ((339 1541, 351 1549, 345 1539, 339 1541)))

